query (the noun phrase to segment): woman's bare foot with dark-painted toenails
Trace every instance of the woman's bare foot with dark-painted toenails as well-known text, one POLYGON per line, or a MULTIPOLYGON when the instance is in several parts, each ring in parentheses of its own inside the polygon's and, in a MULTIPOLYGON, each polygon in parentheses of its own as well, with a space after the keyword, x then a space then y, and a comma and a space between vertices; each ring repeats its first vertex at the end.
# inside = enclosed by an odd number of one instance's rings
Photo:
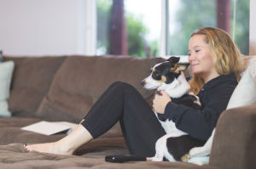
POLYGON ((48 144, 32 144, 26 145, 24 144, 24 148, 27 151, 38 151, 43 153, 51 153, 57 155, 73 155, 74 150, 69 149, 68 147, 62 146, 58 142, 48 143, 48 144))

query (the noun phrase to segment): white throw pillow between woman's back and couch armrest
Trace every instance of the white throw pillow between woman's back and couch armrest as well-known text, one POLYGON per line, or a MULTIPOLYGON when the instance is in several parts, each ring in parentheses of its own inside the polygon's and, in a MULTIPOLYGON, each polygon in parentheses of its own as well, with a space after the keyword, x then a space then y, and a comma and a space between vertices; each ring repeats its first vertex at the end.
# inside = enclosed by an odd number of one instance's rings
POLYGON ((256 82, 246 71, 230 98, 227 110, 252 104, 256 104, 256 82))

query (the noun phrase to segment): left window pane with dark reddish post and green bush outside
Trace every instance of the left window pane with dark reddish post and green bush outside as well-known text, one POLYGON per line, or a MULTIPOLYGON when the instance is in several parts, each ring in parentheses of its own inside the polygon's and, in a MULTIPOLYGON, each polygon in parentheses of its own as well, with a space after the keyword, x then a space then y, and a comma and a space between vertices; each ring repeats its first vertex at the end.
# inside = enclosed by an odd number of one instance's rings
POLYGON ((97 0, 96 54, 159 56, 160 8, 155 0, 97 0))

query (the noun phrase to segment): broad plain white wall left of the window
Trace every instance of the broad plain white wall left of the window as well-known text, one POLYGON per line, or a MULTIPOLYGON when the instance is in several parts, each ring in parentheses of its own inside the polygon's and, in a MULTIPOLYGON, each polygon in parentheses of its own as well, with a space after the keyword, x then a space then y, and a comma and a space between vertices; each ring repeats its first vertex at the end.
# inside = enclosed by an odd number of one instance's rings
POLYGON ((0 50, 9 55, 86 54, 85 31, 91 27, 81 14, 91 1, 0 0, 0 50))

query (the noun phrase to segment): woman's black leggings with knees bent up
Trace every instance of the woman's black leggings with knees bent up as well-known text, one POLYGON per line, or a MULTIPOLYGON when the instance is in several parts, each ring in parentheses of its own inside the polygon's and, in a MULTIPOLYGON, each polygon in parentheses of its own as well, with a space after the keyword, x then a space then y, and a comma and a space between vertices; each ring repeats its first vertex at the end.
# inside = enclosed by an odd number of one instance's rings
POLYGON ((166 132, 143 96, 125 82, 108 87, 81 124, 97 138, 117 121, 131 155, 155 155, 155 143, 166 132))

